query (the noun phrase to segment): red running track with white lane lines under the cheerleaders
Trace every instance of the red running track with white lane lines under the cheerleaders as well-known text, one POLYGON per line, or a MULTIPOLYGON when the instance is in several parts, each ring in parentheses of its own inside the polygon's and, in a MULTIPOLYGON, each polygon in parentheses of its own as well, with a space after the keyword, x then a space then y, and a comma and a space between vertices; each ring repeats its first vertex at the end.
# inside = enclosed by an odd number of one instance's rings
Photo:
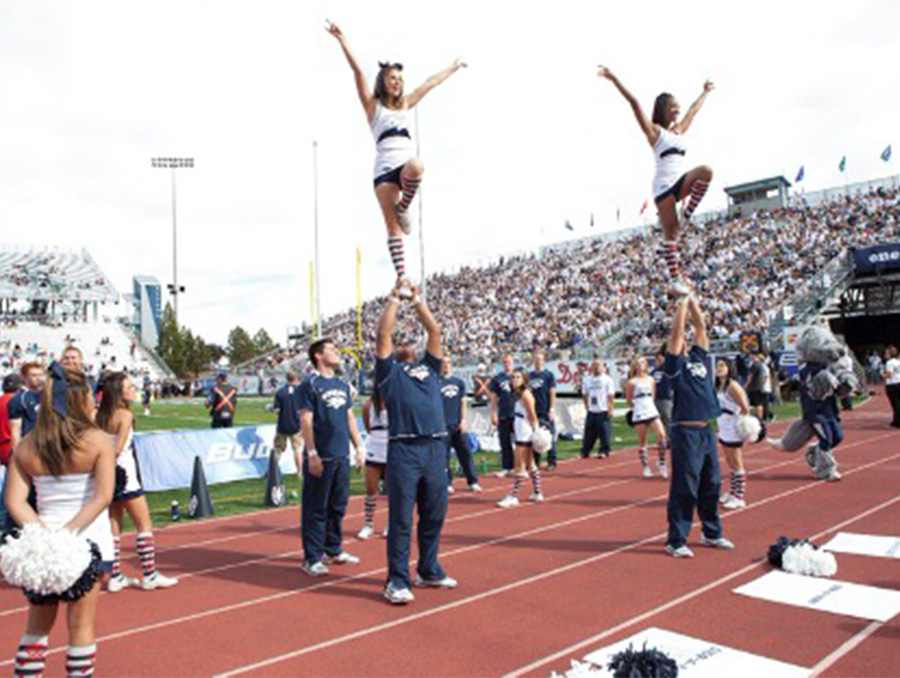
MULTIPOLYGON (((441 562, 459 587, 417 590, 406 607, 381 597, 383 539, 348 540, 360 565, 303 575, 296 507, 160 529, 160 566, 183 581, 102 597, 97 673, 546 676, 661 626, 820 675, 896 675, 898 620, 869 624, 732 593, 767 570, 766 549, 779 534, 822 543, 840 529, 898 533, 900 432, 887 427, 886 410, 878 397, 845 417, 840 483, 813 480, 802 455, 751 448, 750 506, 724 515, 736 550, 697 546, 692 560, 663 553, 667 485, 638 477, 633 450, 561 464, 544 476, 541 505, 498 509, 507 483, 485 478, 484 495, 450 501, 441 562)), ((348 534, 361 508, 353 498, 348 534)), ((695 526, 692 541, 698 535, 695 526)), ((896 561, 838 559, 842 579, 900 588, 896 561)), ((10 657, 23 600, 0 589, 10 657)), ((60 623, 49 675, 63 675, 65 640, 60 623)))

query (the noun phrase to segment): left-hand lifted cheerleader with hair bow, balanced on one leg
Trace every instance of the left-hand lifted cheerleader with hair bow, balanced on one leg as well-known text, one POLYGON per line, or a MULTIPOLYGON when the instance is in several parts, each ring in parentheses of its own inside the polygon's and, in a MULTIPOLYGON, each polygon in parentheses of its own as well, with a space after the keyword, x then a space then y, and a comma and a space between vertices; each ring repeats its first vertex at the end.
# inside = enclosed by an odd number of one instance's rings
POLYGON ((366 112, 375 137, 375 197, 384 215, 388 250, 398 278, 406 278, 403 235, 409 234, 409 206, 422 182, 424 166, 416 157, 412 138, 412 109, 422 97, 466 64, 457 59, 449 68, 436 73, 410 94, 403 89, 403 64, 380 62, 374 90, 369 89, 362 67, 350 51, 347 39, 333 23, 327 30, 337 38, 353 71, 356 93, 366 112))

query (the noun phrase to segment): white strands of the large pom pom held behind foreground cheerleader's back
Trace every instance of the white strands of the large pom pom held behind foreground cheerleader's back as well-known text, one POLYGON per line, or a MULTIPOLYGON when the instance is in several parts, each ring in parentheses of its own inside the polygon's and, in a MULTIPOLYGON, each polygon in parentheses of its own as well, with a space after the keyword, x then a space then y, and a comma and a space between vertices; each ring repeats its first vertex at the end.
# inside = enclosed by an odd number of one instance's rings
POLYGON ((91 564, 91 547, 83 537, 39 523, 0 547, 0 571, 13 586, 41 595, 71 588, 91 564))

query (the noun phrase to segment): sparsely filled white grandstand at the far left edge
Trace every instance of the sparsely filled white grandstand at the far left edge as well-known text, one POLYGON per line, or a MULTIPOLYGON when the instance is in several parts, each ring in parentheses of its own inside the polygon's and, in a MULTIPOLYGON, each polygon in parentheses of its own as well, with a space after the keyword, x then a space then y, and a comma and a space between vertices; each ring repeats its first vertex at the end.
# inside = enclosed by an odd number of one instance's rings
POLYGON ((87 250, 0 246, 0 366, 49 363, 77 346, 94 375, 170 376, 131 331, 130 317, 118 317, 118 304, 118 291, 87 250))

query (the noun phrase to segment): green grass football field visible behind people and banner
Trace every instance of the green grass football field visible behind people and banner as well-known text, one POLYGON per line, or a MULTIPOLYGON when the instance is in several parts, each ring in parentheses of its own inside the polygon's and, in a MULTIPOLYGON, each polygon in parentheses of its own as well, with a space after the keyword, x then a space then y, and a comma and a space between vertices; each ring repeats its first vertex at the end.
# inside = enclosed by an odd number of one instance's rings
MULTIPOLYGON (((251 425, 260 423, 274 423, 276 416, 266 412, 266 405, 271 403, 271 398, 241 398, 235 413, 235 424, 251 425)), ((356 411, 359 413, 360 403, 356 403, 356 411)), ((624 401, 616 401, 617 408, 624 408, 624 401)), ((140 405, 133 407, 135 414, 135 427, 138 431, 156 431, 171 429, 197 429, 207 428, 210 425, 209 414, 199 399, 190 400, 162 400, 154 402, 149 416, 144 416, 140 405)), ((784 403, 775 405, 775 413, 781 418, 792 418, 799 414, 797 403, 784 403)), ((651 436, 652 438, 652 436, 651 436)), ((635 445, 637 439, 634 430, 625 424, 621 416, 613 420, 613 449, 635 445)), ((575 440, 560 440, 557 443, 557 451, 560 459, 566 459, 578 454, 581 442, 575 440)), ((479 472, 496 471, 500 468, 499 455, 496 453, 478 452, 475 455, 476 467, 479 472)), ((454 460, 455 467, 455 460, 454 460)), ((458 481, 461 487, 464 481, 458 481)), ((285 489, 288 502, 299 505, 300 479, 296 476, 285 478, 285 489)), ((210 486, 210 495, 213 501, 215 514, 218 516, 234 513, 256 511, 263 508, 265 493, 265 479, 237 480, 230 483, 220 483, 210 486)), ((362 474, 353 476, 350 491, 353 494, 362 493, 364 490, 362 474)), ((164 525, 171 520, 171 506, 177 501, 180 508, 181 519, 185 520, 186 506, 189 491, 187 488, 179 490, 167 490, 163 492, 148 492, 147 501, 153 515, 155 525, 164 525)))

